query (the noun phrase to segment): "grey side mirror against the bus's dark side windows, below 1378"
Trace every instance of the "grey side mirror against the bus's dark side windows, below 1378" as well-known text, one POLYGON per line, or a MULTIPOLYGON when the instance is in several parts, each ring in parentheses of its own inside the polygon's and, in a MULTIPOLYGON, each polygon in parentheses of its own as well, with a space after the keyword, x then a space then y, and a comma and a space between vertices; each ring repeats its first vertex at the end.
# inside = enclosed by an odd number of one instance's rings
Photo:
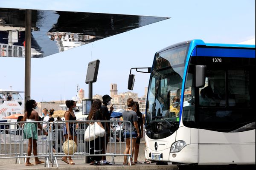
POLYGON ((195 66, 195 87, 201 88, 205 85, 205 70, 206 65, 195 66))

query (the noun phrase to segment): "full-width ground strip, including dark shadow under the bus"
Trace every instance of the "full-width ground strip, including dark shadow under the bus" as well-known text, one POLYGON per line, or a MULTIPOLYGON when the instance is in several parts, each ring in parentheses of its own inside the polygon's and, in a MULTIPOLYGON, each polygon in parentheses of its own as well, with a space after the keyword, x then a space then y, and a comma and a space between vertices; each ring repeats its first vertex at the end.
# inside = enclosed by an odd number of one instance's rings
MULTIPOLYGON (((25 166, 22 164, 8 164, 6 162, 0 163, 0 170, 255 170, 256 165, 215 165, 215 166, 195 166, 195 165, 175 165, 168 163, 168 165, 156 165, 156 164, 137 164, 137 165, 123 165, 121 162, 117 162, 113 165, 94 166, 84 163, 84 159, 73 159, 76 163, 74 165, 66 164, 58 159, 58 166, 54 164, 52 167, 49 164, 49 168, 44 167, 44 164, 25 166)), ((10 162, 10 161, 9 161, 10 162)), ((33 163, 33 161, 31 161, 33 163)))

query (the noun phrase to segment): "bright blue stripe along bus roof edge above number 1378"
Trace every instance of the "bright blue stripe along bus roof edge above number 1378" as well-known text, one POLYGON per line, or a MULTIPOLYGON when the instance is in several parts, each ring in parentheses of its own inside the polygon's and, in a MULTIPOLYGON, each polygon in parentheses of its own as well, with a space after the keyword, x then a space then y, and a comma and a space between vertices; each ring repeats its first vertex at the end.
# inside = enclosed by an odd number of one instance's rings
POLYGON ((197 47, 192 56, 255 58, 255 49, 197 47))

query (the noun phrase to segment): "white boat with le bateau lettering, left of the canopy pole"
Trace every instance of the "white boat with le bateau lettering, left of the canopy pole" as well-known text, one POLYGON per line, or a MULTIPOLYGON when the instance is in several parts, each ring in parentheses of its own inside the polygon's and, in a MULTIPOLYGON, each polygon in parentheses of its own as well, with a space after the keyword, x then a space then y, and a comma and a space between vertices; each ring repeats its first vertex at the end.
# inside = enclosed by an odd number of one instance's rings
MULTIPOLYGON (((5 117, 14 114, 24 114, 24 100, 20 96, 22 91, 0 89, 0 121, 7 122, 5 117), (12 95, 12 100, 3 99, 3 94, 12 95)), ((22 92, 23 93, 23 92, 22 92)))

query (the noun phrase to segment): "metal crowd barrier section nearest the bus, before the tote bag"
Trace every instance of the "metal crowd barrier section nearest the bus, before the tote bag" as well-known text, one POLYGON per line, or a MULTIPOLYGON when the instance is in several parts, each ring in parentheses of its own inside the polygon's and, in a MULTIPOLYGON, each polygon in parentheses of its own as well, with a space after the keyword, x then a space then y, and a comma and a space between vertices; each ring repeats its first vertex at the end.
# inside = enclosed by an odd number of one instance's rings
MULTIPOLYGON (((54 162, 56 162, 56 165, 58 167, 58 157, 63 157, 63 156, 112 156, 112 163, 114 162, 114 157, 115 156, 127 156, 127 160, 129 161, 129 164, 131 165, 131 153, 127 154, 126 152, 124 153, 123 150, 123 145, 126 145, 126 140, 123 140, 123 142, 116 140, 116 136, 120 136, 119 138, 122 139, 122 130, 117 130, 116 123, 128 123, 130 125, 130 131, 131 131, 131 122, 129 121, 55 121, 52 122, 50 125, 50 129, 52 129, 50 141, 51 145, 55 147, 55 152, 51 152, 51 158, 52 158, 52 166, 54 162), (68 146, 72 147, 73 150, 71 150, 71 153, 64 153, 63 151, 63 144, 67 140, 64 136, 64 126, 66 126, 66 122, 68 123, 70 127, 70 133, 71 134, 76 134, 72 136, 73 141, 77 141, 77 150, 74 148, 73 142, 68 142, 68 146), (109 125, 114 125, 110 131, 105 131, 105 134, 103 137, 96 137, 93 136, 93 140, 90 142, 84 141, 84 133, 86 128, 89 126, 95 126, 96 122, 101 122, 103 127, 107 129, 106 127, 109 125), (92 125, 93 123, 93 125, 92 125), (76 127, 76 128, 74 128, 76 127), (117 132, 118 131, 118 132, 117 132), (105 144, 107 144, 108 150, 104 147, 105 144), (100 150, 102 149, 102 152, 96 154, 96 152, 93 152, 92 149, 94 148, 94 151, 98 148, 100 150), (119 152, 118 152, 119 150, 119 152), (108 151, 108 153, 107 153, 108 151)), ((89 138, 90 138, 89 134, 89 138)), ((131 141, 130 137, 130 141, 131 141)), ((54 147, 50 147, 51 149, 54 149, 54 147)), ((132 146, 131 146, 132 148, 132 146)), ((130 150, 131 150, 130 148, 130 150)), ((126 151, 125 147, 125 151, 126 151)))

